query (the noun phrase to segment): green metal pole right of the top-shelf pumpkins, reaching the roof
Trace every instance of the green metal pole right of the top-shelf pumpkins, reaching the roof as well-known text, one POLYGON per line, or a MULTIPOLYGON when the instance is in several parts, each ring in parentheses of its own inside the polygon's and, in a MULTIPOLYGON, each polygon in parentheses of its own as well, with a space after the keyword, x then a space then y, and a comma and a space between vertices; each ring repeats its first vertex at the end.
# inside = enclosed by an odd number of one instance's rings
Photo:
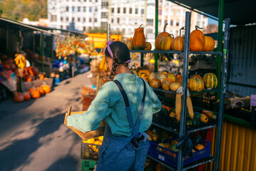
MULTIPOLYGON (((217 30, 217 51, 222 52, 222 36, 223 36, 223 16, 224 16, 224 0, 219 0, 219 24, 218 24, 218 30, 217 30)), ((221 78, 221 63, 222 63, 222 57, 217 56, 217 82, 220 83, 221 78)), ((220 84, 217 85, 217 89, 220 90, 220 84)), ((220 93, 217 93, 217 99, 220 98, 220 93)))

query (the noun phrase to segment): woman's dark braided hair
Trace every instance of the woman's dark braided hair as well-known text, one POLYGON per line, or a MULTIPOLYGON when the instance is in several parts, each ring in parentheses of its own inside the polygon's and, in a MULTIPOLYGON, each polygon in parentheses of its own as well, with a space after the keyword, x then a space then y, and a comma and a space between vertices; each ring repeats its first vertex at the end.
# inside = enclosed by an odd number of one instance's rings
MULTIPOLYGON (((120 64, 128 66, 128 63, 126 63, 126 61, 130 60, 130 52, 128 47, 126 46, 126 43, 123 43, 121 41, 114 41, 109 45, 109 47, 111 48, 111 51, 113 53, 113 64, 111 75, 109 76, 108 81, 113 81, 113 78, 116 75, 117 66, 120 64)), ((112 58, 107 48, 105 50, 105 56, 112 58)))

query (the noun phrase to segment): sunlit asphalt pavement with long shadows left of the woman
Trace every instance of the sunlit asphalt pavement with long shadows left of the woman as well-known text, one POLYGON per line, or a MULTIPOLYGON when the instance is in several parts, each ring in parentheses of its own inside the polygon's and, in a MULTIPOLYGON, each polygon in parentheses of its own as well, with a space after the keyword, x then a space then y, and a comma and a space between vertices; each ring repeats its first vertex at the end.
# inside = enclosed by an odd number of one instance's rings
POLYGON ((88 73, 68 78, 41 98, 0 103, 0 170, 81 170, 81 138, 63 124, 69 105, 81 111, 88 73))

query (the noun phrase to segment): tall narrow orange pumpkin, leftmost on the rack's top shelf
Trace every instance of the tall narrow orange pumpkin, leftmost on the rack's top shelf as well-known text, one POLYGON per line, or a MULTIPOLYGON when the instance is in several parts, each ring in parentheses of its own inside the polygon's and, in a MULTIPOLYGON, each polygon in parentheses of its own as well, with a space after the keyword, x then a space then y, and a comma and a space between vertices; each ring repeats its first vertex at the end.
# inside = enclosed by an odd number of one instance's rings
MULTIPOLYGON (((140 25, 140 27, 142 26, 142 24, 140 25)), ((135 33, 133 35, 133 41, 131 44, 131 48, 138 50, 144 50, 145 49, 145 35, 143 33, 143 28, 136 28, 135 29, 135 33)))

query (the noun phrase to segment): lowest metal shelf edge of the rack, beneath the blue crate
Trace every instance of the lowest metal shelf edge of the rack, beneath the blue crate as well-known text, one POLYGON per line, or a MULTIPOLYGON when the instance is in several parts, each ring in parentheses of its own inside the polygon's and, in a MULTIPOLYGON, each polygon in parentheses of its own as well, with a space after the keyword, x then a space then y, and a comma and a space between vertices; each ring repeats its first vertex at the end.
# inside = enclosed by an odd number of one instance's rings
MULTIPOLYGON (((152 159, 152 160, 155 160, 155 162, 159 162, 161 165, 164 165, 165 167, 167 167, 167 168, 170 169, 170 170, 177 170, 176 167, 173 167, 172 165, 168 165, 167 163, 163 162, 162 160, 159 160, 159 159, 157 159, 157 158, 155 158, 155 157, 152 157, 152 156, 150 156, 150 155, 148 155, 148 157, 149 157, 150 159, 152 159)), ((207 162, 212 162, 213 160, 215 160, 214 157, 213 157, 213 155, 210 155, 210 156, 205 157, 205 158, 203 158, 203 159, 200 159, 200 160, 198 160, 198 161, 192 162, 192 163, 190 163, 190 164, 188 164, 188 165, 184 165, 184 166, 183 166, 183 170, 188 170, 188 169, 191 169, 191 168, 193 168, 193 167, 197 167, 197 166, 199 166, 199 165, 203 165, 203 164, 205 164, 205 163, 207 163, 207 162)))

